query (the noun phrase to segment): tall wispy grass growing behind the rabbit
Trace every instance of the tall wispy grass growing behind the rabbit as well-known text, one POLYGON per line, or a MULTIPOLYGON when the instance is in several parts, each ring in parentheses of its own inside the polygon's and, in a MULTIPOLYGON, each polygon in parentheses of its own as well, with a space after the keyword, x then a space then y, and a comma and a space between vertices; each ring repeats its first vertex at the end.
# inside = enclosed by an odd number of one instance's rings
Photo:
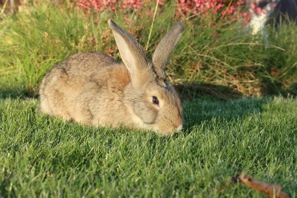
MULTIPOLYGON (((44 74, 79 51, 103 51, 120 60, 108 18, 146 46, 154 2, 142 14, 105 10, 85 15, 73 3, 41 2, 0 20, 0 95, 35 96, 44 74)), ((157 10, 147 55, 173 26, 175 3, 157 10)), ((270 31, 269 46, 241 30, 241 22, 200 16, 182 19, 185 31, 167 68, 175 84, 211 84, 246 96, 296 94, 297 28, 270 31), (215 26, 213 25, 215 24, 215 26), (295 89, 295 90, 294 90, 295 89)))

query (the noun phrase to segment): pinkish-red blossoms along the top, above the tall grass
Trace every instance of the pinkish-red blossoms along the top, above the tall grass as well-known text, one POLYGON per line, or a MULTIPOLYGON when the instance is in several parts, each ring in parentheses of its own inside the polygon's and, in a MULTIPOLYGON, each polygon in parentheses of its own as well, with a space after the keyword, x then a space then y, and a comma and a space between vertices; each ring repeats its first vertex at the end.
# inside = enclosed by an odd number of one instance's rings
MULTIPOLYGON (((107 7, 112 10, 123 9, 131 10, 139 8, 144 0, 72 0, 78 8, 83 8, 86 13, 94 11, 102 11, 107 7)), ((177 9, 175 16, 181 18, 185 15, 200 15, 202 17, 217 16, 220 14, 223 19, 231 19, 232 21, 239 18, 249 20, 249 14, 241 13, 241 5, 245 0, 177 0, 177 9)), ((159 5, 164 5, 159 0, 159 5)))

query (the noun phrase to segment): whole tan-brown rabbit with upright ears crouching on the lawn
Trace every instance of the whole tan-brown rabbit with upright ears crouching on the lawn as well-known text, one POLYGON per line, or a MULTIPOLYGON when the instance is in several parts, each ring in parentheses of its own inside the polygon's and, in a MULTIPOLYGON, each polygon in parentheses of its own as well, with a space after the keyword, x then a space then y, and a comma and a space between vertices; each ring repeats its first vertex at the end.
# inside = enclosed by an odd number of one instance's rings
POLYGON ((127 126, 164 136, 183 128, 182 102, 166 81, 166 64, 184 26, 177 22, 149 62, 143 48, 108 20, 123 63, 100 52, 80 52, 55 65, 40 87, 41 113, 91 126, 127 126))

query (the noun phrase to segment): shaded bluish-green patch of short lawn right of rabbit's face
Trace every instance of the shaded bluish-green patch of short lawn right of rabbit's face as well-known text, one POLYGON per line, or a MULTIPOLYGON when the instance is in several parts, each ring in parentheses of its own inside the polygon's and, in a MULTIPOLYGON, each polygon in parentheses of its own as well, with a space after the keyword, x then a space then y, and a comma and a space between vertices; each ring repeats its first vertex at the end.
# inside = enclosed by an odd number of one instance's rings
POLYGON ((265 112, 264 106, 272 98, 243 98, 236 100, 195 99, 184 102, 184 134, 195 127, 212 126, 212 122, 240 121, 265 112))

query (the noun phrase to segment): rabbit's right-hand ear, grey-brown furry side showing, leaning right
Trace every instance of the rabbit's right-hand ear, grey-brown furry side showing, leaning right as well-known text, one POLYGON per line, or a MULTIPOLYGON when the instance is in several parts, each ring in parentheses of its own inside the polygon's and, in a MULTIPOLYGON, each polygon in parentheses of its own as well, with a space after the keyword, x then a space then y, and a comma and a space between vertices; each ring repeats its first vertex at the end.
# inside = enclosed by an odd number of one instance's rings
POLYGON ((152 55, 152 65, 154 71, 161 79, 166 79, 167 61, 173 52, 179 38, 182 36, 184 26, 181 22, 177 22, 171 30, 160 41, 155 52, 152 55))

